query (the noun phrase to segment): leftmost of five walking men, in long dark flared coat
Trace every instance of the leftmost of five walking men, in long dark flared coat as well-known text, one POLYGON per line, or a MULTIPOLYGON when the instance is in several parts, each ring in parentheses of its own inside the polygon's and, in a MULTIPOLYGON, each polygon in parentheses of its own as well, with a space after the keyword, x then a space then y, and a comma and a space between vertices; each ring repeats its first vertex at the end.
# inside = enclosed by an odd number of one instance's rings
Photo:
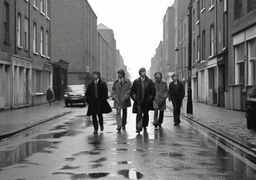
POLYGON ((87 116, 92 116, 92 123, 94 127, 93 134, 98 133, 98 120, 103 131, 103 115, 112 112, 110 104, 108 103, 108 87, 106 82, 101 80, 101 72, 95 70, 92 72, 94 80, 88 85, 85 96, 88 103, 87 116))

